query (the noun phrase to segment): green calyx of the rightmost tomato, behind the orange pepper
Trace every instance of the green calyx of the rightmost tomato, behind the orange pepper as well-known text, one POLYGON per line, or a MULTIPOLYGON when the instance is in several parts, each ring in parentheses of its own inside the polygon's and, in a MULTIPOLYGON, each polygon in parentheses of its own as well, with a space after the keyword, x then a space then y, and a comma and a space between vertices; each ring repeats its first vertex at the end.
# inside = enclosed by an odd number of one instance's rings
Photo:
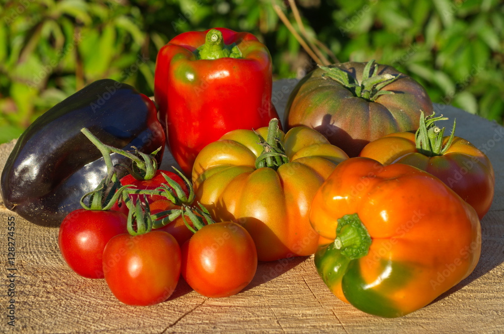
POLYGON ((419 153, 427 157, 435 157, 448 151, 455 135, 456 120, 453 121, 452 133, 445 145, 443 145, 445 128, 439 128, 435 125, 436 121, 447 119, 448 117, 443 117, 443 115, 438 117, 434 117, 434 114, 424 116, 423 111, 420 110, 420 125, 415 133, 415 144, 419 153))

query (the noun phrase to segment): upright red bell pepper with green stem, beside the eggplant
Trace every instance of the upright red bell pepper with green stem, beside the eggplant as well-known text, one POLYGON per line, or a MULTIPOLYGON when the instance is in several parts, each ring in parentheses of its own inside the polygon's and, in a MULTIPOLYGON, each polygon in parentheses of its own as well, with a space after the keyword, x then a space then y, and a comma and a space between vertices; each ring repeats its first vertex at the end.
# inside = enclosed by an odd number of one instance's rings
POLYGON ((268 126, 271 56, 252 34, 226 28, 185 32, 161 48, 154 97, 170 151, 191 174, 198 153, 226 132, 268 126))

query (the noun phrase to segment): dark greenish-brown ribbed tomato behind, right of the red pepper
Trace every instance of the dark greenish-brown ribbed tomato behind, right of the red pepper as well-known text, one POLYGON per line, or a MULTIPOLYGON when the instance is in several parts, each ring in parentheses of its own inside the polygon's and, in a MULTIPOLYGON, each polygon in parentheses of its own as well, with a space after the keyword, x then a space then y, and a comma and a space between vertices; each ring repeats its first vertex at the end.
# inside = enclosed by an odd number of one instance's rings
POLYGON ((344 62, 308 73, 285 108, 285 129, 310 126, 356 157, 388 133, 417 129, 420 109, 432 112, 425 89, 392 66, 344 62))

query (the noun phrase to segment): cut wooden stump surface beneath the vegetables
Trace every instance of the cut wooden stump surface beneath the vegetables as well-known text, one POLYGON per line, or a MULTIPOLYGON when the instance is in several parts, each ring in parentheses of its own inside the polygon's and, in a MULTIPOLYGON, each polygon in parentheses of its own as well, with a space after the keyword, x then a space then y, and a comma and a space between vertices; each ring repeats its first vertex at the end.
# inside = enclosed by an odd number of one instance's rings
MULTIPOLYGON (((295 83, 274 83, 273 102, 280 113, 295 83)), ((437 104, 435 109, 457 118, 456 135, 487 153, 496 184, 492 207, 481 221, 482 253, 475 271, 425 308, 394 319, 363 313, 328 290, 312 256, 260 263, 253 282, 235 296, 206 298, 181 279, 166 302, 128 306, 115 299, 104 280, 85 279, 70 270, 59 253, 56 228, 31 224, 2 206, 0 332, 504 332, 504 128, 451 106, 437 104), (14 263, 8 261, 10 219, 15 220, 14 263), (13 273, 11 282, 8 275, 13 273), (14 297, 8 296, 9 289, 14 297), (15 326, 8 324, 10 305, 15 307, 15 326)), ((0 168, 13 145, 0 146, 0 168)), ((172 164, 167 151, 162 167, 172 164)))

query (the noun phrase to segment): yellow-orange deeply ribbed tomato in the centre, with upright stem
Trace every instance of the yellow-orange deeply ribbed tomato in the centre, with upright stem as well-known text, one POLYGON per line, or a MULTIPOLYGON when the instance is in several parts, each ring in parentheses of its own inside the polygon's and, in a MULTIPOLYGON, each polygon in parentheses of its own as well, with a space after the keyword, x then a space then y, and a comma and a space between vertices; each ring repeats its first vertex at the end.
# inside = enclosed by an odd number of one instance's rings
POLYGON ((200 152, 196 198, 216 221, 240 223, 259 260, 310 255, 319 238, 308 220, 311 200, 347 158, 318 131, 299 126, 284 135, 273 119, 256 133, 230 131, 200 152))

